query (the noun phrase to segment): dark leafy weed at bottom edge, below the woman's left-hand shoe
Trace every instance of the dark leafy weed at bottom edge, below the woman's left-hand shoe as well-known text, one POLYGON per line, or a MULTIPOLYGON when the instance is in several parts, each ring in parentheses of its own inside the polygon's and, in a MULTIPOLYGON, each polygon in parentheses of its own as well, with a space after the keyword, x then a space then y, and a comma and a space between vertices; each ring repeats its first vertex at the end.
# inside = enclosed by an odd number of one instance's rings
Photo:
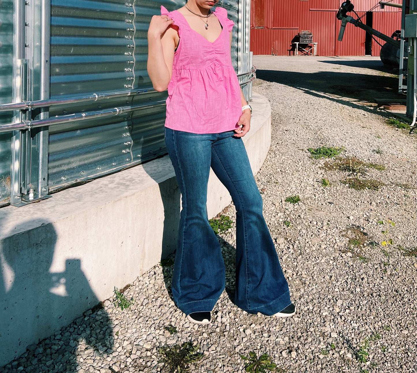
POLYGON ((201 360, 203 353, 198 352, 199 345, 193 345, 192 341, 184 342, 182 345, 163 346, 159 348, 165 371, 168 373, 185 373, 192 363, 201 360))

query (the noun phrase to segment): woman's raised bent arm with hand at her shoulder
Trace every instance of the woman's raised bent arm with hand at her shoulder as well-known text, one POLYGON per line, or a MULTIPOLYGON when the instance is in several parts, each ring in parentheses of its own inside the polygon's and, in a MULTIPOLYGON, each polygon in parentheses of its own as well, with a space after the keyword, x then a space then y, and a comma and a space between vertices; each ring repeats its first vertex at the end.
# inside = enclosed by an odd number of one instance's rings
POLYGON ((169 26, 173 20, 154 15, 148 30, 148 74, 153 88, 162 92, 171 81, 176 31, 169 26))

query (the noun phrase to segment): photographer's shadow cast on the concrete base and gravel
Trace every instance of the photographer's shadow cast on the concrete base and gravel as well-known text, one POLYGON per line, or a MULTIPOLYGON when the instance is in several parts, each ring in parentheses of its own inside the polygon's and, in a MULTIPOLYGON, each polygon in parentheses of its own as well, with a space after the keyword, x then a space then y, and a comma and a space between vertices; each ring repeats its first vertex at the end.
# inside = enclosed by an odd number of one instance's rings
POLYGON ((100 309, 80 259, 66 259, 62 271, 51 272, 57 233, 53 224, 45 225, 30 233, 6 235, 0 245, 0 366, 15 358, 13 367, 5 365, 3 373, 20 367, 24 372, 76 371, 82 341, 98 355, 113 349, 113 325, 100 309), (91 308, 89 317, 75 311, 91 308), (56 332, 56 325, 63 328, 56 332))

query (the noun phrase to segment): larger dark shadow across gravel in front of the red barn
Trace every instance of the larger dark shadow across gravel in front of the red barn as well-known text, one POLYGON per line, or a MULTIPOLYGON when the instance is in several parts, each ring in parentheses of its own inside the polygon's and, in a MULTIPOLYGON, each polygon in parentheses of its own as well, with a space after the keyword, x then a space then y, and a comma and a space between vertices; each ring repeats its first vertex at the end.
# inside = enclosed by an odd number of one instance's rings
POLYGON ((256 70, 256 77, 267 82, 281 83, 298 88, 314 97, 325 98, 366 112, 373 112, 374 109, 354 101, 375 103, 378 100, 389 100, 396 102, 406 98, 405 95, 401 95, 397 91, 398 79, 389 75, 367 75, 334 71, 301 73, 279 70, 256 70), (352 101, 337 97, 330 98, 320 93, 350 98, 352 101))

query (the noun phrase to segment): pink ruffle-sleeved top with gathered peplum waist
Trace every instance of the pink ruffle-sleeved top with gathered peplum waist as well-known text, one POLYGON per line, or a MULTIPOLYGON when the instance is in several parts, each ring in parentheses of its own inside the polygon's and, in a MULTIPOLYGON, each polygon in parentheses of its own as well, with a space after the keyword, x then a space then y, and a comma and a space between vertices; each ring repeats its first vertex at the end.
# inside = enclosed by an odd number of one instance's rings
POLYGON ((227 10, 217 7, 213 13, 223 28, 213 43, 193 30, 178 10, 168 12, 161 6, 161 14, 174 21, 180 37, 168 85, 165 126, 191 133, 239 128, 241 89, 231 61, 234 23, 227 18, 227 10))

